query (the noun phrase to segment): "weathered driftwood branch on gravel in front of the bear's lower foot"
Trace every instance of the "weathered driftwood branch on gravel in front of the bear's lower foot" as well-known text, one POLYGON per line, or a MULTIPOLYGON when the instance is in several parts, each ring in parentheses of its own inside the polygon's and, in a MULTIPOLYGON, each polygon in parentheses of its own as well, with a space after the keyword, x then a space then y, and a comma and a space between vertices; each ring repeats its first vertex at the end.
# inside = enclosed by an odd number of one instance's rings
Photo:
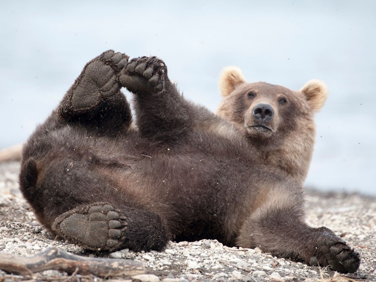
POLYGON ((145 273, 145 267, 141 261, 88 258, 64 252, 55 247, 30 257, 0 253, 0 269, 22 275, 49 269, 65 271, 68 274, 92 274, 98 277, 133 276, 145 273))

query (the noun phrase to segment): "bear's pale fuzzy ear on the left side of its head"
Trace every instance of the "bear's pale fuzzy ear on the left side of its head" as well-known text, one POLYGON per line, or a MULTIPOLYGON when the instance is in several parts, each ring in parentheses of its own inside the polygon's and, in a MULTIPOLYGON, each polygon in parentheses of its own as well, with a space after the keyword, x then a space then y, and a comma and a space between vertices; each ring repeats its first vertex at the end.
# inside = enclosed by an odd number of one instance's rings
POLYGON ((247 82, 240 68, 225 67, 219 75, 219 89, 222 96, 228 96, 240 83, 247 82))

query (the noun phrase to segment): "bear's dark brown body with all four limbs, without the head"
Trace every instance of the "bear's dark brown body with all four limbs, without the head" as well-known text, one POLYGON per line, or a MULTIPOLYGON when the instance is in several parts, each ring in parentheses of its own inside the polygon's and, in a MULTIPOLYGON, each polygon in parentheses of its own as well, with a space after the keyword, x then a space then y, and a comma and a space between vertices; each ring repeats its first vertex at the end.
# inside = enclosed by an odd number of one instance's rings
POLYGON ((128 59, 109 50, 90 61, 25 144, 20 188, 43 226, 92 250, 207 238, 358 269, 341 238, 305 223, 300 183, 261 161, 232 123, 186 100, 163 61, 128 59))

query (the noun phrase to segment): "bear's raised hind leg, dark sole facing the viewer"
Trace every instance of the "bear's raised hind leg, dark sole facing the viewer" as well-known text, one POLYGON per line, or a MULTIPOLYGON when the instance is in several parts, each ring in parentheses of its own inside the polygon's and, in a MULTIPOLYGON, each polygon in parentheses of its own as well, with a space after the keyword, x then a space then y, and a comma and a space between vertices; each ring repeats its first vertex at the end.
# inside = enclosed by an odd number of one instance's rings
POLYGON ((118 76, 128 59, 108 50, 88 62, 61 101, 60 117, 106 135, 126 131, 132 116, 118 76))

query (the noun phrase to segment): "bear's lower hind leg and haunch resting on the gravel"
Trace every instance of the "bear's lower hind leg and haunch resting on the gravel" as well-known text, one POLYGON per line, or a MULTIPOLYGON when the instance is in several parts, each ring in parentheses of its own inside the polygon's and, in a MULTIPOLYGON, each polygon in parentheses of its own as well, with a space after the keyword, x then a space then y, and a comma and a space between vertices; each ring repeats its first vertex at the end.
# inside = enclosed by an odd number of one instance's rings
POLYGON ((38 173, 36 161, 27 160, 20 189, 50 232, 93 250, 164 248, 170 235, 161 217, 120 193, 111 177, 100 174, 91 162, 64 157, 47 162, 39 162, 38 173))

